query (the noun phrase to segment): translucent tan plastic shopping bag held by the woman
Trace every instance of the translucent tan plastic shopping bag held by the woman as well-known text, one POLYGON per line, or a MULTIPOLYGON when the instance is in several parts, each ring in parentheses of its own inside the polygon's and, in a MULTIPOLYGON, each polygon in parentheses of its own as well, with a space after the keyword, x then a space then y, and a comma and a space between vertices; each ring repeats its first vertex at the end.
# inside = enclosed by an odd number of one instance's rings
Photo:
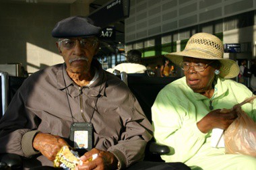
POLYGON ((235 105, 233 109, 238 111, 238 118, 224 131, 225 151, 256 157, 256 124, 241 109, 241 105, 235 105))

